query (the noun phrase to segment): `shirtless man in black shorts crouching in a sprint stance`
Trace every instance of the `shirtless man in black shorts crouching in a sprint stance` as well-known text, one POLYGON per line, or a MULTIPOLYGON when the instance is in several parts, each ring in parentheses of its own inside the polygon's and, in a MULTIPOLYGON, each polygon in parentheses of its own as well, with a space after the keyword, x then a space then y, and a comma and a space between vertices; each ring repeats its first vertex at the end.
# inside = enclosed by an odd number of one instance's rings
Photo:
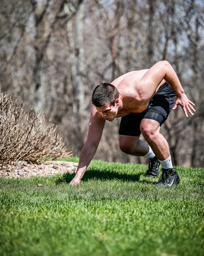
POLYGON ((160 133, 160 126, 177 105, 181 106, 186 117, 187 111, 193 115, 196 110, 168 61, 159 61, 150 69, 126 73, 112 84, 96 86, 92 103, 87 141, 70 184, 80 183, 95 155, 105 121, 112 122, 117 117, 122 117, 119 130, 121 150, 150 159, 147 177, 158 176, 161 164, 162 176, 157 186, 171 187, 179 183, 180 178, 172 167, 169 146, 160 133), (148 144, 139 139, 141 133, 148 144))

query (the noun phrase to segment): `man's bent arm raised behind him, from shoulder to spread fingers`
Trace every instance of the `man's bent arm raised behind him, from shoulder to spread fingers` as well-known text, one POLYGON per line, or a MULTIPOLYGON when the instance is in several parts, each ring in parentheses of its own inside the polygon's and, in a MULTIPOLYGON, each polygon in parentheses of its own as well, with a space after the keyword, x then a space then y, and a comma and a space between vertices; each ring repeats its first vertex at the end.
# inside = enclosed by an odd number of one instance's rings
MULTIPOLYGON (((168 82, 173 91, 176 93, 176 101, 173 109, 176 109, 177 105, 180 105, 184 110, 186 117, 188 117, 186 110, 188 110, 188 112, 193 115, 193 112, 196 112, 196 110, 193 108, 195 104, 190 101, 184 93, 184 89, 181 86, 179 77, 176 75, 176 72, 168 63, 168 61, 164 60, 156 63, 145 73, 141 79, 141 82, 143 86, 147 86, 147 84, 150 85, 153 83, 155 86, 153 86, 152 90, 155 90, 163 79, 168 82), (193 112, 191 110, 193 110, 193 112)), ((151 90, 148 90, 148 92, 152 93, 151 90)))

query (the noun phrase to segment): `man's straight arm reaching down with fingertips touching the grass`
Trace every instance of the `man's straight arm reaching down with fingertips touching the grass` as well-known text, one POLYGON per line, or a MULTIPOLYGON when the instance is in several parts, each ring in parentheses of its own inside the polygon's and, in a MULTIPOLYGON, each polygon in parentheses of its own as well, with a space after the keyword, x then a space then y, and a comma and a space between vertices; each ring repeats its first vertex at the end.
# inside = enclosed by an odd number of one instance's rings
POLYGON ((92 158, 95 155, 97 147, 99 145, 101 135, 103 133, 105 125, 105 119, 97 112, 95 106, 92 107, 91 117, 88 127, 88 137, 82 152, 80 154, 79 165, 76 171, 76 175, 73 180, 71 180, 71 185, 76 185, 80 183, 84 172, 87 170, 92 158))

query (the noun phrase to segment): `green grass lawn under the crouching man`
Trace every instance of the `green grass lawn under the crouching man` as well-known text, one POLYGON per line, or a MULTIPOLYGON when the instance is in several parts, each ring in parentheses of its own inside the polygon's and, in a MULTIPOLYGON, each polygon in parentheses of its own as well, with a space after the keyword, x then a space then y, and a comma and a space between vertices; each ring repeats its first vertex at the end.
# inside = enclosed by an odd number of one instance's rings
POLYGON ((1 178, 0 255, 204 255, 204 169, 176 169, 172 188, 145 164, 97 160, 77 186, 1 178))

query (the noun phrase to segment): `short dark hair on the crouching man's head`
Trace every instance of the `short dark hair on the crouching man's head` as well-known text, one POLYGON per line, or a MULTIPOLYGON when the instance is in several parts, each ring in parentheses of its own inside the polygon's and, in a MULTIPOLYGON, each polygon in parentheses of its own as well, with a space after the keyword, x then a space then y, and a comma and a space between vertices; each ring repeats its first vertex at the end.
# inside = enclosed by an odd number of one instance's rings
POLYGON ((96 86, 92 94, 92 104, 100 108, 107 104, 114 106, 117 98, 119 98, 119 92, 116 86, 103 82, 96 86))

